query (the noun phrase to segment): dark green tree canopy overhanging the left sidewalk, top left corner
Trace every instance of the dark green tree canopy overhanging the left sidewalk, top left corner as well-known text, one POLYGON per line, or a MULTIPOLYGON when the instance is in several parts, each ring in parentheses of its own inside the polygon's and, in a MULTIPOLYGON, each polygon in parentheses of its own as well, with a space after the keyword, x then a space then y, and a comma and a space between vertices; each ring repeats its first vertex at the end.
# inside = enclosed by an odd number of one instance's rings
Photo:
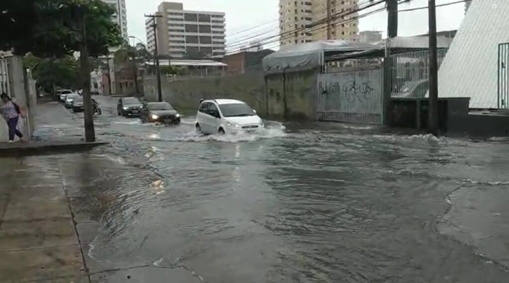
POLYGON ((105 55, 108 47, 122 43, 120 27, 111 21, 115 9, 101 0, 0 2, 0 49, 12 49, 18 55, 31 52, 46 58, 72 55, 79 51, 83 18, 91 56, 105 55))

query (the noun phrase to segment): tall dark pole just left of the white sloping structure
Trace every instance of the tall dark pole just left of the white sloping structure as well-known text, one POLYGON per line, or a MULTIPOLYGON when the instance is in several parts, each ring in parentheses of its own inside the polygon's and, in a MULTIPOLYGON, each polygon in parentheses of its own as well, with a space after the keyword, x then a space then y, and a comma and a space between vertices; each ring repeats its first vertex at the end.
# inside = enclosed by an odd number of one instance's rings
POLYGON ((438 135, 438 62, 437 62, 437 18, 435 0, 428 0, 430 25, 430 134, 438 135))

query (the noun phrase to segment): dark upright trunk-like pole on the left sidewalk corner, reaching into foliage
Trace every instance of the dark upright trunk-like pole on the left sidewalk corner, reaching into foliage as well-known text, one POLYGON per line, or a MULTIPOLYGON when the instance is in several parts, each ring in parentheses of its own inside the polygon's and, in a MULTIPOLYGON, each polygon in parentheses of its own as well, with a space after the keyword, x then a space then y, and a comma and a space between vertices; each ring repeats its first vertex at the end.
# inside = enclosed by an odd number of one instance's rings
POLYGON ((90 93, 90 65, 89 51, 87 46, 87 25, 86 15, 82 10, 80 13, 81 42, 79 43, 81 76, 83 79, 83 108, 85 141, 95 142, 94 113, 92 106, 92 95, 90 93))

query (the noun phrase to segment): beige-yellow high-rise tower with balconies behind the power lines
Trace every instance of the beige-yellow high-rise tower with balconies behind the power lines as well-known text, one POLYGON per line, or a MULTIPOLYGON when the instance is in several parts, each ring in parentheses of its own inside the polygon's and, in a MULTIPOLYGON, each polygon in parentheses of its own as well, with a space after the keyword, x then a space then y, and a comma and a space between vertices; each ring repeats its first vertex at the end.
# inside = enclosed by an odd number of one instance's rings
POLYGON ((349 21, 357 16, 349 14, 357 3, 358 0, 279 0, 280 45, 327 39, 357 41, 358 20, 349 21))

